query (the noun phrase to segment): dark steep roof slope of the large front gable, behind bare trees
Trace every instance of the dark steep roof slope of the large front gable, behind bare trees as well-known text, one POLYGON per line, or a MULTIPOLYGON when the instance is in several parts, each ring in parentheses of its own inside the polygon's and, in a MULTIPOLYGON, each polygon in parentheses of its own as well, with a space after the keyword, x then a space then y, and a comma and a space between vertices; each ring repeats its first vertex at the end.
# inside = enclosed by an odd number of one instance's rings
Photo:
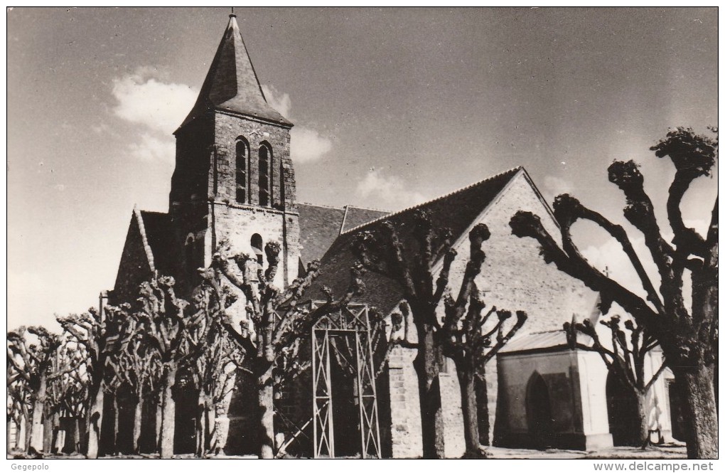
MULTIPOLYGON (((320 276, 308 290, 307 297, 311 299, 320 297, 320 289, 323 286, 332 289, 336 297, 344 295, 349 284, 349 268, 356 260, 350 244, 360 231, 375 233, 381 229, 384 221, 390 221, 397 228, 409 258, 415 258, 416 249, 412 230, 413 215, 416 210, 427 210, 434 226, 450 229, 452 241, 455 241, 519 172, 525 171, 520 167, 513 168, 421 205, 347 229, 340 234, 320 261, 320 276)), ((402 299, 402 289, 392 279, 368 271, 363 276, 363 281, 365 294, 362 299, 384 313, 393 310, 402 299)))

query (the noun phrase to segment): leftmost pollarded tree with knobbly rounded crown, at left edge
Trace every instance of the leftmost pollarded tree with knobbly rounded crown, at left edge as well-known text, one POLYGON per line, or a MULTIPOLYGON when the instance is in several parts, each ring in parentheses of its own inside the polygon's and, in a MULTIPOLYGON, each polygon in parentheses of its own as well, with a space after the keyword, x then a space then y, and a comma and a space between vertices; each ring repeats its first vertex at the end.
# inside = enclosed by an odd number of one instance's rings
POLYGON ((25 379, 33 406, 29 451, 43 451, 43 414, 46 411, 49 375, 60 344, 57 334, 41 326, 31 326, 27 330, 20 327, 7 334, 8 361, 25 379), (30 342, 26 332, 35 335, 37 343, 30 342))

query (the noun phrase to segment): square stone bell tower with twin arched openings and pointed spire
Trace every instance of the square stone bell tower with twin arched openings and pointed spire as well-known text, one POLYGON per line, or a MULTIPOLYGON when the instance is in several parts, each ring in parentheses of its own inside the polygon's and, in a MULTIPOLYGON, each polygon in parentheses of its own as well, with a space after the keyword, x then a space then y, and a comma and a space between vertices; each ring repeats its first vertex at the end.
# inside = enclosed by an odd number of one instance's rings
POLYGON ((229 23, 186 120, 175 131, 169 213, 183 244, 186 283, 218 244, 257 255, 281 244, 276 285, 297 277, 299 214, 289 156, 292 123, 268 104, 239 32, 229 23))

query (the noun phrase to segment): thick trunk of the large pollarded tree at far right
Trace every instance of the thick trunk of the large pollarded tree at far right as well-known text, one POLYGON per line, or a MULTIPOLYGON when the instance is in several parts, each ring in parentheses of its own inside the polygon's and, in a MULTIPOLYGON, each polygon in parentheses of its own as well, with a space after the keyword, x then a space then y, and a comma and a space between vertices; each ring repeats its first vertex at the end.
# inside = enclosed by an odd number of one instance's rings
POLYGON ((718 416, 713 389, 713 367, 673 367, 684 398, 687 458, 718 458, 718 416))

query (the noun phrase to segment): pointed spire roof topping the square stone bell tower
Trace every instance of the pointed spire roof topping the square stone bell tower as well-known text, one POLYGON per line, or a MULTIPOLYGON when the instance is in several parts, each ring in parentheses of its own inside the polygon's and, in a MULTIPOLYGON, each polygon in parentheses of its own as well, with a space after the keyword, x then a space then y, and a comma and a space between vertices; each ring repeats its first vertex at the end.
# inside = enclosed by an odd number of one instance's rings
POLYGON ((229 15, 229 23, 204 79, 202 91, 186 120, 186 125, 207 110, 224 110, 253 118, 292 126, 292 123, 267 103, 262 86, 249 59, 247 46, 239 33, 236 15, 229 15))

